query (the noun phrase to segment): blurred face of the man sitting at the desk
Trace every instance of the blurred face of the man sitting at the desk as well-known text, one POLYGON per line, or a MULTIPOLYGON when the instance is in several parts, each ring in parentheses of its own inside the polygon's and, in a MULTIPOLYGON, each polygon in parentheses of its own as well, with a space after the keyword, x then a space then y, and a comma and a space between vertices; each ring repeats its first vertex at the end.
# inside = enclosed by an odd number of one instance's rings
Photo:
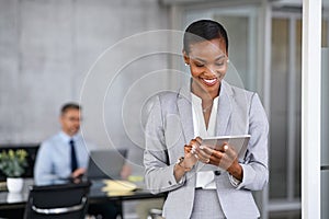
POLYGON ((63 131, 69 136, 73 136, 80 129, 80 111, 69 108, 60 116, 59 120, 63 131))

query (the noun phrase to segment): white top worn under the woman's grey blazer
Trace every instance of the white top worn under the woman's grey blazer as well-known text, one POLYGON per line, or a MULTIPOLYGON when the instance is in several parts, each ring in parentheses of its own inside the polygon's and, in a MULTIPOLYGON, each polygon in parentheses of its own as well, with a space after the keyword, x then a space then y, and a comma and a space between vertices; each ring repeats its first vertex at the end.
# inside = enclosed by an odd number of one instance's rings
MULTIPOLYGON (((206 128, 205 119, 203 116, 203 110, 202 110, 202 100, 193 93, 191 93, 191 95, 192 95, 194 138, 197 136, 200 136, 201 138, 214 137, 216 135, 218 96, 215 97, 213 101, 208 128, 206 128)), ((203 189, 216 189, 214 172, 198 171, 196 173, 195 187, 202 187, 203 189)))

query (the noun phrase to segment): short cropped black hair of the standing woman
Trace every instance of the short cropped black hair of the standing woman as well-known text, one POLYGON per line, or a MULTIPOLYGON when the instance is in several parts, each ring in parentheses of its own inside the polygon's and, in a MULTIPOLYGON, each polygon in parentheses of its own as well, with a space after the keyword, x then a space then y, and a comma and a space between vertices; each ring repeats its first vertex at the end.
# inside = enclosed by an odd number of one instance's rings
POLYGON ((183 49, 186 54, 190 53, 190 45, 203 41, 212 41, 214 38, 223 38, 228 53, 228 36, 222 24, 212 20, 200 20, 190 24, 184 33, 183 49))

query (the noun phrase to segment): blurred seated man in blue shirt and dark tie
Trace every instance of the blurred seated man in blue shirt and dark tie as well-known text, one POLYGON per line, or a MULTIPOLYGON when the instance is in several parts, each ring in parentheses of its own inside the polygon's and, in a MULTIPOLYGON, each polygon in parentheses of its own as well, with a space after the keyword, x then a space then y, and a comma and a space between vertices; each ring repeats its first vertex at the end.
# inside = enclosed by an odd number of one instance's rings
MULTIPOLYGON (((86 173, 89 153, 95 146, 86 141, 80 129, 81 107, 67 103, 61 107, 59 122, 61 130, 42 142, 34 165, 34 183, 50 185, 61 182, 79 181, 86 173)), ((90 205, 89 212, 102 218, 116 218, 113 205, 90 205)))

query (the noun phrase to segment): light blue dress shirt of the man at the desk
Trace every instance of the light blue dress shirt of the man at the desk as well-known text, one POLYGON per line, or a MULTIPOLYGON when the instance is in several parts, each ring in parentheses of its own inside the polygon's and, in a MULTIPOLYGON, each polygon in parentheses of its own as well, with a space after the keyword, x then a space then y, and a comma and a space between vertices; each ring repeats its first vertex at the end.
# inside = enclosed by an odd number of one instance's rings
POLYGON ((34 165, 34 183, 36 185, 56 184, 70 177, 70 139, 73 139, 76 143, 78 168, 87 169, 89 151, 94 146, 86 142, 80 134, 70 137, 60 131, 41 145, 34 165))

